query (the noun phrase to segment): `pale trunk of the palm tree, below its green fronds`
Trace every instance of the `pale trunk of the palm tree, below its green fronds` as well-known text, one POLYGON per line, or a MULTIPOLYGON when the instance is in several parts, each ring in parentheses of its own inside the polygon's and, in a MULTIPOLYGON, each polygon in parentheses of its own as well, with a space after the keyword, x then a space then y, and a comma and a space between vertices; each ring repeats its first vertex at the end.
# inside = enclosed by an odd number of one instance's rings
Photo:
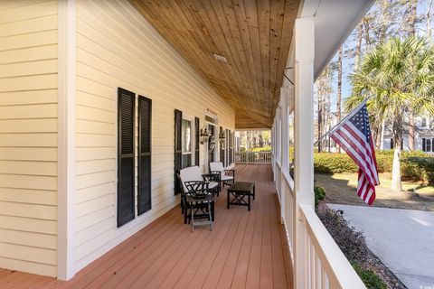
POLYGON ((402 117, 399 112, 395 113, 392 125, 393 144, 395 152, 393 154, 392 165, 392 191, 402 191, 401 183, 401 139, 402 139, 402 117))

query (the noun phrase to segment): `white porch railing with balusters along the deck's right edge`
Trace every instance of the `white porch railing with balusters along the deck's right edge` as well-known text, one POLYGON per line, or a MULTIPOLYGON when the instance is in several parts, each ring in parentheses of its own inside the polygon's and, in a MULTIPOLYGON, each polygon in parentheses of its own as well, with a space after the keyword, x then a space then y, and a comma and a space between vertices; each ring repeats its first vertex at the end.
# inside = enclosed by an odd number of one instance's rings
MULTIPOLYGON (((294 199, 294 182, 281 169, 280 163, 273 162, 274 177, 281 207, 282 222, 287 231, 289 249, 294 262, 295 246, 301 252, 304 266, 296 268, 296 277, 301 278, 303 288, 366 288, 355 273, 353 266, 345 258, 335 240, 330 236, 311 205, 299 205, 294 199), (301 219, 296 218, 296 210, 301 212, 301 219), (303 242, 295 244, 295 223, 301 225, 303 242)), ((295 266, 295 265, 294 265, 295 266)), ((300 283, 299 283, 300 284, 300 283)))

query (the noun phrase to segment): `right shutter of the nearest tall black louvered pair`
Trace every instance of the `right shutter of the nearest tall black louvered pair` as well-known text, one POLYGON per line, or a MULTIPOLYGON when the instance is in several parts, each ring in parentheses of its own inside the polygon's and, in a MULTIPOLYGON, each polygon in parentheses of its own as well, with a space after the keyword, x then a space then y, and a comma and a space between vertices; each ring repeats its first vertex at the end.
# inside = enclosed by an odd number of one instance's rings
POLYGON ((138 96, 138 215, 151 210, 152 100, 138 96))

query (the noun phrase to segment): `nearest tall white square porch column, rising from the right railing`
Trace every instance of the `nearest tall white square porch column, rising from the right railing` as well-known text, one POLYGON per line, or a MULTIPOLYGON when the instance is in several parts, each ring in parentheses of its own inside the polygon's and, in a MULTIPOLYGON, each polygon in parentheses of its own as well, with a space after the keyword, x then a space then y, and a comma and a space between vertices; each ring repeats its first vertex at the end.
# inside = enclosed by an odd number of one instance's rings
POLYGON ((295 201, 294 201, 294 283, 304 284, 306 256, 300 205, 314 205, 314 18, 300 18, 294 27, 295 44, 295 201))

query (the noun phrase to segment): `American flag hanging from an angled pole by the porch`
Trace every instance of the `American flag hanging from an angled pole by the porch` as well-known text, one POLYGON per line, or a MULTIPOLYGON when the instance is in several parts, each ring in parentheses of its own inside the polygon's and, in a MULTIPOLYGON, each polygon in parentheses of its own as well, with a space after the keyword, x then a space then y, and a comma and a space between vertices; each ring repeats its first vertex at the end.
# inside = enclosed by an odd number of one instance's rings
POLYGON ((380 184, 380 181, 366 101, 335 126, 330 136, 359 166, 357 195, 372 205, 375 200, 374 186, 380 184))

